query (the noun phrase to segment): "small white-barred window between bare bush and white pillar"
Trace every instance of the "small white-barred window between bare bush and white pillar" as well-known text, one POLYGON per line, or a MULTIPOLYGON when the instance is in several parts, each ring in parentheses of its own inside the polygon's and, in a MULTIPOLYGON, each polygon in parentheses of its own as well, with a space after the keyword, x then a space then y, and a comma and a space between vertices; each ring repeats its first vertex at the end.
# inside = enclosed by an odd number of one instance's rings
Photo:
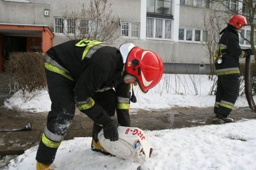
POLYGON ((139 37, 139 23, 122 22, 122 37, 139 37))

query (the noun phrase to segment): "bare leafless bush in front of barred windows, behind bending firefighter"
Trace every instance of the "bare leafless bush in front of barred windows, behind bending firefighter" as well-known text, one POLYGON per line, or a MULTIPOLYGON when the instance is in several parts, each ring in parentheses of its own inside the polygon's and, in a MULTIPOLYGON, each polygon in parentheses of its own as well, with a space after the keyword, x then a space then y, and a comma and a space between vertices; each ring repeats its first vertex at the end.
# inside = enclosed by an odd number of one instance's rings
POLYGON ((112 4, 107 0, 90 0, 80 10, 62 13, 68 25, 64 34, 69 39, 95 39, 111 44, 118 29, 118 20, 112 15, 112 4))

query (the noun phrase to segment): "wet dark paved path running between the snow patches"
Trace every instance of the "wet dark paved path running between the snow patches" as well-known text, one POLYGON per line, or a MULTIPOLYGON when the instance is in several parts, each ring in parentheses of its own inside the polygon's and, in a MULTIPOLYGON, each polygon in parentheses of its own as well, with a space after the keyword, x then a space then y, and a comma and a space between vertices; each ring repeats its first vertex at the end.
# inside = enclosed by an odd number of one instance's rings
MULTIPOLYGON (((38 145, 47 119, 46 112, 31 113, 5 109, 4 100, 12 95, 9 94, 8 83, 8 75, 0 72, 0 106, 2 106, 0 107, 0 129, 23 128, 27 123, 32 123, 33 130, 0 131, 0 156, 22 154, 26 149, 38 145)), ((235 108, 230 117, 235 121, 256 119, 256 113, 249 107, 235 108)), ((159 111, 131 110, 130 118, 132 127, 142 130, 175 129, 223 123, 215 118, 212 107, 175 107, 159 111)), ((90 137, 92 124, 90 118, 76 110, 72 125, 64 139, 90 137)))

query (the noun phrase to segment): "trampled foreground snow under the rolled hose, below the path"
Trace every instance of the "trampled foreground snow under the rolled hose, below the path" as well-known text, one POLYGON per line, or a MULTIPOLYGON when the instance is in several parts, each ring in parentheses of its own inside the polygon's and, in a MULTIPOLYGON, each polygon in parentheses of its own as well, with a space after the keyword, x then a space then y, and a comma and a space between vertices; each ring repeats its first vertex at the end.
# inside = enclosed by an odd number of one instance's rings
MULTIPOLYGON (((256 120, 144 131, 154 149, 150 170, 255 170, 256 120)), ((136 170, 139 163, 90 149, 90 137, 63 141, 54 170, 136 170)), ((5 170, 35 170, 37 147, 11 160, 5 170)))

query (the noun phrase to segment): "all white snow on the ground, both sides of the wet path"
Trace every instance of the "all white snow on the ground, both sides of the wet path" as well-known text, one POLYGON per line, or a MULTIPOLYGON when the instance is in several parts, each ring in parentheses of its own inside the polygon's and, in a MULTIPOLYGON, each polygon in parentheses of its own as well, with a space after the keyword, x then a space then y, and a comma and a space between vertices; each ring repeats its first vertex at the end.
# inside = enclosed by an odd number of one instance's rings
MULTIPOLYGON (((215 96, 208 93, 213 82, 205 75, 165 74, 158 86, 147 94, 135 88, 137 103, 131 109, 167 109, 171 107, 213 107, 215 96)), ((255 100, 255 99, 254 99, 255 100)), ((23 103, 20 93, 6 100, 10 109, 48 111, 47 92, 23 103)), ((245 96, 239 96, 235 107, 247 107, 245 96)), ((150 170, 256 170, 256 120, 200 127, 144 131, 153 148, 150 170)), ((136 170, 137 160, 106 156, 90 149, 91 137, 63 141, 54 170, 136 170)), ((10 161, 4 170, 35 170, 38 146, 10 161)))

